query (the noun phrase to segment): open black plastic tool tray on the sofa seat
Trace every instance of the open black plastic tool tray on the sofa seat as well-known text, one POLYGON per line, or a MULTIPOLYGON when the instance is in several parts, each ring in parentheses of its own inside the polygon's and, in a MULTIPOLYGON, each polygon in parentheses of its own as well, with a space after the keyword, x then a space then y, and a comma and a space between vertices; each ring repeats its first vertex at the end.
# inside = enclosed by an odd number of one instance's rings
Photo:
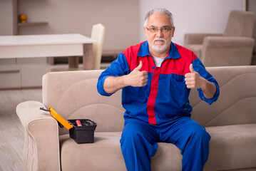
POLYGON ((88 119, 76 119, 76 120, 68 120, 73 128, 69 130, 69 136, 76 143, 88 143, 94 141, 94 130, 96 129, 97 124, 94 123, 92 120, 88 119), (76 125, 76 120, 80 120, 82 126, 76 125))

